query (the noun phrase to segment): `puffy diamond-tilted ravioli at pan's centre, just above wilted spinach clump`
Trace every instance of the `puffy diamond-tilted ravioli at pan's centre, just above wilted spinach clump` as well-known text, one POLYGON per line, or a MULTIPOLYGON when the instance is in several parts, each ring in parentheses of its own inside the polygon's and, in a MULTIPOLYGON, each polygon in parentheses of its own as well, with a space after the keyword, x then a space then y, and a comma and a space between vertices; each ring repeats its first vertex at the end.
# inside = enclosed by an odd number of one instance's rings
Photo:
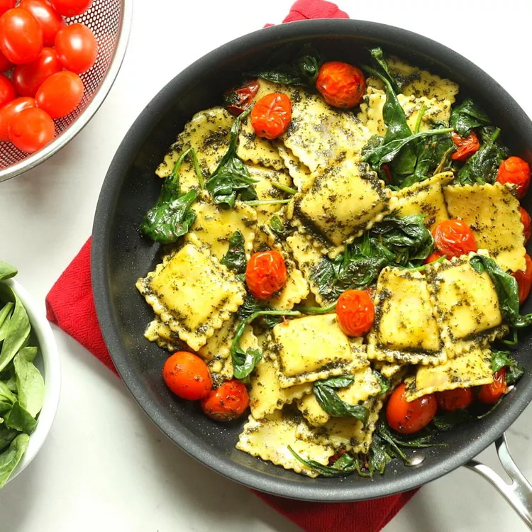
MULTIPOLYGON (((352 242, 392 209, 389 189, 370 167, 343 160, 317 174, 312 186, 294 196, 287 218, 325 250, 352 242)), ((337 253, 337 254, 338 254, 337 253)))

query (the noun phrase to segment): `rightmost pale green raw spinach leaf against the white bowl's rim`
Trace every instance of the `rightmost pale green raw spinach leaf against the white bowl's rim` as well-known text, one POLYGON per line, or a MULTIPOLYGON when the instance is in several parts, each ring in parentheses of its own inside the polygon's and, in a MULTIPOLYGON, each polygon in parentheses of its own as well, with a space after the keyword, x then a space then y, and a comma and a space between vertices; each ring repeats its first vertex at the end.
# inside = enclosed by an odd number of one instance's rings
POLYGON ((23 409, 35 417, 43 408, 45 384, 43 375, 33 365, 37 348, 23 348, 13 358, 18 401, 23 409))

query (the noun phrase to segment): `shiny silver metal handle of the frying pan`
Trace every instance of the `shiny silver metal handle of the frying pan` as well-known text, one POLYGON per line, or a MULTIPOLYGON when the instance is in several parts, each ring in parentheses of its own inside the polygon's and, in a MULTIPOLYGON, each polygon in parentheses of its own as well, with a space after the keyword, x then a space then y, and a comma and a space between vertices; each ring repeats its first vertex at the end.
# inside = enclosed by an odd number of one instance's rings
POLYGON ((465 464, 468 469, 484 477, 506 499, 508 504, 519 514, 526 526, 532 530, 532 486, 519 470, 516 462, 511 458, 506 434, 495 440, 495 448, 502 467, 511 479, 508 484, 487 465, 477 460, 470 460, 465 464))

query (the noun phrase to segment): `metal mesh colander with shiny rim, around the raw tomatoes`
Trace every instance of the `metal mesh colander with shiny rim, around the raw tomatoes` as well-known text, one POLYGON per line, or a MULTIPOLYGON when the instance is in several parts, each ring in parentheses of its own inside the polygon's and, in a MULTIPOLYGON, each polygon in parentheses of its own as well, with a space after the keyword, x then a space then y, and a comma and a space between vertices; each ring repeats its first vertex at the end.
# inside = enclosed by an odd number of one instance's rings
POLYGON ((88 11, 66 19, 67 23, 81 22, 89 26, 99 45, 94 66, 79 74, 85 86, 82 103, 65 118, 55 121, 54 140, 37 153, 28 155, 11 143, 0 142, 0 181, 22 174, 48 159, 82 131, 94 116, 120 70, 132 14, 133 0, 94 0, 88 11))

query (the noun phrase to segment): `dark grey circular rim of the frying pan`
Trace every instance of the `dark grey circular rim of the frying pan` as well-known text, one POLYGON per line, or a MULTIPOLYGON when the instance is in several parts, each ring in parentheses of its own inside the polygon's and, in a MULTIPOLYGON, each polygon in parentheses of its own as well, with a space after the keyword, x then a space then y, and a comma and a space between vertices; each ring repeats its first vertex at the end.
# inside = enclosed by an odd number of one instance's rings
POLYGON ((206 440, 196 438, 187 428, 180 426, 179 421, 175 419, 171 421, 170 416, 160 411, 157 401, 153 400, 142 380, 135 375, 134 367, 129 365, 128 350, 121 343, 119 328, 116 323, 116 313, 111 297, 109 265, 106 260, 111 246, 113 210, 118 203, 123 182, 126 181, 128 172, 124 169, 128 168, 131 162, 135 160, 138 150, 160 119, 160 113, 162 113, 165 104, 171 101, 172 97, 175 98, 175 94, 179 92, 179 87, 192 85, 197 76, 201 76, 204 70, 209 69, 209 66, 216 64, 218 60, 223 61, 226 57, 238 57, 239 54, 245 53, 248 48, 260 48, 260 46, 272 43, 282 44, 302 38, 360 36, 378 42, 384 40, 384 35, 386 40, 397 44, 398 48, 416 45, 423 50, 421 55, 424 54, 427 58, 442 64, 453 65, 457 72, 467 72, 467 75, 464 74, 466 79, 475 79, 477 84, 484 84, 487 87, 486 91, 492 89, 498 96, 504 97, 506 110, 512 117, 516 117, 519 127, 526 131, 526 137, 532 139, 532 122, 510 94, 480 67, 477 67, 458 52, 431 38, 395 26, 356 19, 328 18, 291 22, 262 28, 221 45, 196 60, 163 87, 136 118, 118 147, 102 184, 96 206, 91 262, 94 302, 107 348, 126 387, 153 423, 187 454, 235 482, 280 497, 322 502, 377 499, 405 492, 431 480, 436 480, 436 478, 460 465, 464 465, 501 436, 531 401, 532 383, 526 388, 521 387, 520 394, 512 399, 511 410, 505 412, 505 415, 497 416, 497 419, 494 419, 493 423, 478 438, 467 442, 464 448, 450 455, 449 458, 445 458, 445 460, 416 467, 416 471, 412 475, 394 477, 390 482, 392 488, 380 482, 367 482, 364 489, 348 484, 305 484, 303 482, 305 479, 302 479, 301 482, 292 482, 287 479, 272 477, 258 470, 252 470, 234 462, 227 455, 213 452, 211 445, 206 440))

